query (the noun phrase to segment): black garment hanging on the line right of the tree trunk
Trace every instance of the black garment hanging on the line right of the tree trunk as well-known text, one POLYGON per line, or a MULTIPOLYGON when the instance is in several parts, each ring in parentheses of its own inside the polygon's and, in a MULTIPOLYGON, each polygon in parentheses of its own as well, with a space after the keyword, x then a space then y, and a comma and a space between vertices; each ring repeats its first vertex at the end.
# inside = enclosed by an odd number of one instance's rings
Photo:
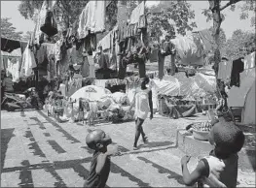
POLYGON ((230 86, 240 86, 240 73, 244 70, 243 65, 244 58, 238 58, 237 60, 233 61, 233 67, 231 72, 231 84, 230 86))

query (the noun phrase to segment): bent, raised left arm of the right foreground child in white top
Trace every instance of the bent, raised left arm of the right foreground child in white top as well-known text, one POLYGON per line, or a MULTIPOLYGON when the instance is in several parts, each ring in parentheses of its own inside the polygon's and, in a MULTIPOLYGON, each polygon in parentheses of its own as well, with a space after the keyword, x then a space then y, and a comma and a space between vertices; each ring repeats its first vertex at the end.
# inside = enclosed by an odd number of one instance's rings
POLYGON ((203 163, 203 161, 201 160, 197 168, 192 173, 190 173, 187 167, 187 163, 189 162, 189 160, 190 160, 190 156, 184 156, 181 159, 181 168, 182 168, 184 183, 187 186, 192 186, 198 180, 200 180, 201 177, 208 176, 209 168, 206 167, 206 163, 203 163))

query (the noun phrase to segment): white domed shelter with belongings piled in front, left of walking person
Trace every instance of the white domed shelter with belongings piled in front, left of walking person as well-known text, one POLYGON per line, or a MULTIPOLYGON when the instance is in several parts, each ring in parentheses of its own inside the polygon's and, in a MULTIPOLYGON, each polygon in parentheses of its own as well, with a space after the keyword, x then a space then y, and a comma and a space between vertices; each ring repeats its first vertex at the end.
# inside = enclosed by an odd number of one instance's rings
MULTIPOLYGON (((132 111, 128 110, 128 97, 125 93, 111 93, 108 89, 88 85, 75 92, 68 101, 73 105, 74 119, 86 119, 93 122, 96 119, 112 120, 132 119, 132 111)), ((69 109, 69 108, 68 108, 69 109)), ((64 110, 64 115, 70 117, 70 110, 64 110)))

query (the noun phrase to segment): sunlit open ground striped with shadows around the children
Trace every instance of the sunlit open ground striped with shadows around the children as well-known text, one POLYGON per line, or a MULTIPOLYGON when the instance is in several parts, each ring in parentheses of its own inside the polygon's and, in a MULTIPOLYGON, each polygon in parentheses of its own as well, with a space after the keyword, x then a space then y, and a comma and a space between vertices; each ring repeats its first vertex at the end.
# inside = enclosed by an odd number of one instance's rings
MULTIPOLYGON (((109 187, 184 187, 176 146, 176 129, 202 116, 146 120, 147 145, 132 150, 134 122, 96 126, 56 123, 42 111, 1 111, 2 187, 81 187, 90 171, 86 135, 99 128, 109 133, 122 155, 112 157, 109 187)), ((189 168, 197 162, 191 159, 189 168)), ((238 172, 239 187, 254 187, 255 172, 238 172)))

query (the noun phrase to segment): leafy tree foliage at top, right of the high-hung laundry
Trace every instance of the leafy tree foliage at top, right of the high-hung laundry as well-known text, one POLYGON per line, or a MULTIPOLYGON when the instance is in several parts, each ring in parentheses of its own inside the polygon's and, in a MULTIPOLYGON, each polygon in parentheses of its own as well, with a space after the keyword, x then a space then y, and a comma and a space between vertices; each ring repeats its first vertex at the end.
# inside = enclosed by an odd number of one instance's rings
POLYGON ((148 13, 148 31, 153 41, 160 42, 160 37, 165 33, 174 38, 176 32, 185 35, 186 31, 192 31, 197 27, 195 12, 186 1, 162 1, 153 6, 148 13), (176 29, 176 31, 175 31, 176 29))

